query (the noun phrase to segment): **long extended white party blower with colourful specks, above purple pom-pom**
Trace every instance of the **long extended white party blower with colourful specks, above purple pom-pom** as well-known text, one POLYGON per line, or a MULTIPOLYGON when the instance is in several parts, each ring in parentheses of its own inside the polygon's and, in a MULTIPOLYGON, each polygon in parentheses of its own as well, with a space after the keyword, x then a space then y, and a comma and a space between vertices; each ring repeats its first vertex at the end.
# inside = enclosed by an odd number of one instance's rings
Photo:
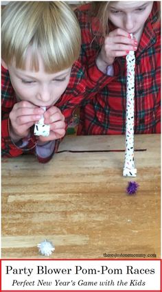
MULTIPOLYGON (((131 38, 132 38, 132 34, 131 38)), ((126 151, 124 177, 136 177, 137 169, 134 161, 134 115, 135 115, 135 52, 126 56, 126 151)))

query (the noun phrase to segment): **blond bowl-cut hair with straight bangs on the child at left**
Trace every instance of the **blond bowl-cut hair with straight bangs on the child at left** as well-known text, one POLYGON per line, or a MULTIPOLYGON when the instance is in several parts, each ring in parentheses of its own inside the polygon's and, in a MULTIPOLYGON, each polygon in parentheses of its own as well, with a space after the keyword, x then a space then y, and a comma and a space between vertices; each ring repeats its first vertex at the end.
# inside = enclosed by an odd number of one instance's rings
POLYGON ((71 67, 80 53, 80 27, 75 14, 62 1, 14 1, 2 10, 1 56, 7 65, 25 69, 32 48, 31 69, 38 71, 38 53, 45 71, 71 67))

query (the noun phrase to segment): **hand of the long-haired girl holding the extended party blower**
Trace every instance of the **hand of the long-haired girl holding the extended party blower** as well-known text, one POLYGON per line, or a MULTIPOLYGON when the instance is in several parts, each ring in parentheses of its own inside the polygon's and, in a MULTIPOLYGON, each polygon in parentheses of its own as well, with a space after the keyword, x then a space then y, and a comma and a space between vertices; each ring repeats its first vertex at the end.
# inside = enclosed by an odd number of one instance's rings
POLYGON ((126 56, 129 51, 137 50, 137 40, 131 38, 128 32, 117 28, 104 39, 104 44, 97 57, 97 67, 105 71, 108 65, 113 65, 116 57, 126 56))

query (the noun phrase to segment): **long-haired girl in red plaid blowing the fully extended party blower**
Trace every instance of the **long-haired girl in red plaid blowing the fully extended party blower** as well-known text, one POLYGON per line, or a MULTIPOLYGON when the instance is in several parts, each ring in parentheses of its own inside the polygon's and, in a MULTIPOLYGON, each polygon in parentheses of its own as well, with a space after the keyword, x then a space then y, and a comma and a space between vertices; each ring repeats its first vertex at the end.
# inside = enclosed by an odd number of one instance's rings
POLYGON ((126 55, 130 50, 136 58, 135 133, 160 133, 159 5, 157 1, 100 1, 76 10, 82 34, 80 62, 107 75, 107 85, 80 108, 78 135, 125 133, 126 55))

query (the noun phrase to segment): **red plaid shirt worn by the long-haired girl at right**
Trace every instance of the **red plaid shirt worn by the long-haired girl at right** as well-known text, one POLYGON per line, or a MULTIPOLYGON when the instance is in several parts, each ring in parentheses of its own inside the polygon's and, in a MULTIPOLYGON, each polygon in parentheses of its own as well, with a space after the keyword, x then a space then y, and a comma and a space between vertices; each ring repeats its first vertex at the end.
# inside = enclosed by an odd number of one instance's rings
MULTIPOLYGON (((90 6, 91 3, 88 3, 76 10, 82 33, 80 62, 85 67, 95 67, 95 63, 89 64, 89 60, 100 52, 100 43, 103 41, 100 32, 97 32, 96 19, 89 16, 90 6)), ((156 1, 143 29, 135 58, 135 133, 160 133, 161 32, 160 21, 157 22, 156 1)), ((116 58, 113 66, 120 67, 119 76, 111 83, 108 82, 106 87, 95 93, 93 100, 80 108, 78 135, 125 133, 126 58, 116 58)))

